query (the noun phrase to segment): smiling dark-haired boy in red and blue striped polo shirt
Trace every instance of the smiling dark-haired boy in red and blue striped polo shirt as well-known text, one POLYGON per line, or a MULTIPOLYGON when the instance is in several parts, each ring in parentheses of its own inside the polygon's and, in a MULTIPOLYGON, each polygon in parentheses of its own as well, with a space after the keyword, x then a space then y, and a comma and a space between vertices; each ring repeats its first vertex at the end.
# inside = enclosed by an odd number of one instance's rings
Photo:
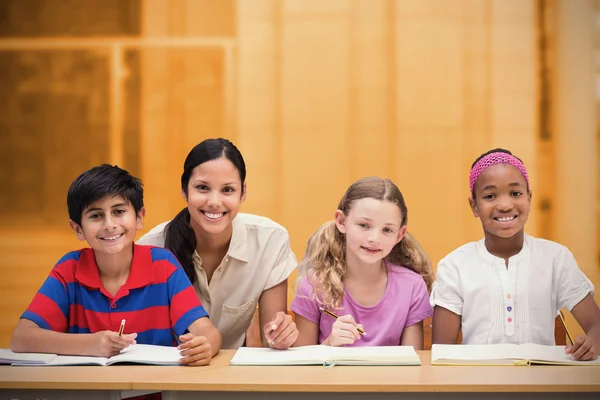
POLYGON ((179 262, 166 249, 134 244, 145 214, 141 181, 102 164, 75 179, 67 207, 75 235, 91 248, 56 264, 21 316, 12 350, 110 357, 136 342, 176 345, 174 332, 182 364, 210 363, 221 334, 179 262))

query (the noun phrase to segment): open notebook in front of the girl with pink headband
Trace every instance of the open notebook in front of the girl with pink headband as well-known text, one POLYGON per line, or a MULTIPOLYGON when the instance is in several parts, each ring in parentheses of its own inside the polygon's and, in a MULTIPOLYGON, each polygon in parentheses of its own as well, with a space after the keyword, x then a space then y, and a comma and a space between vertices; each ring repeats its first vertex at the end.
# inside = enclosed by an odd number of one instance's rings
POLYGON ((565 354, 565 346, 540 344, 434 344, 433 365, 598 365, 594 361, 574 361, 565 354))

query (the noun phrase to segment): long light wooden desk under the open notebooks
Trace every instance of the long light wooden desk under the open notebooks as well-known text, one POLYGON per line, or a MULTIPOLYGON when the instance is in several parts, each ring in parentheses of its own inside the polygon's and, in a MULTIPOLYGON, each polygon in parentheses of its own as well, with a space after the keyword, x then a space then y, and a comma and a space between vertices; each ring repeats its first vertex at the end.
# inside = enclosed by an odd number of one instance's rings
POLYGON ((173 399, 598 399, 600 367, 0 367, 0 398, 118 399, 164 391, 173 399), (9 390, 10 389, 10 390, 9 390), (198 393, 203 392, 203 393, 198 393), (283 393, 285 392, 285 393, 283 393))

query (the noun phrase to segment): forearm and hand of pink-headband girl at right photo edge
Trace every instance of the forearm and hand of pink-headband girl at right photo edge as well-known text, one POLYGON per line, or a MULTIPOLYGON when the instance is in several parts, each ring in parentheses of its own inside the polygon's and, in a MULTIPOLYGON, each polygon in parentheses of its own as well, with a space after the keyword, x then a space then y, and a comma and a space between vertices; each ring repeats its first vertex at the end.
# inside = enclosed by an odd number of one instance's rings
POLYGON ((579 335, 572 346, 567 346, 567 354, 580 361, 594 360, 600 352, 600 309, 591 294, 583 298, 571 314, 586 333, 579 335))

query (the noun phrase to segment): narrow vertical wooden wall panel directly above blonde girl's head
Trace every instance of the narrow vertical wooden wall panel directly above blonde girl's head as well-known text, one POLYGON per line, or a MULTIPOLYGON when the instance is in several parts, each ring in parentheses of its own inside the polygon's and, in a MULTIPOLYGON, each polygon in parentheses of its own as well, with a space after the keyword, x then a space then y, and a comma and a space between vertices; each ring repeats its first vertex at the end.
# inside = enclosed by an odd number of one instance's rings
MULTIPOLYGON (((395 163, 393 21, 390 2, 349 2, 348 163, 350 178, 392 177, 395 163)), ((338 197, 342 197, 339 193, 338 197)))

